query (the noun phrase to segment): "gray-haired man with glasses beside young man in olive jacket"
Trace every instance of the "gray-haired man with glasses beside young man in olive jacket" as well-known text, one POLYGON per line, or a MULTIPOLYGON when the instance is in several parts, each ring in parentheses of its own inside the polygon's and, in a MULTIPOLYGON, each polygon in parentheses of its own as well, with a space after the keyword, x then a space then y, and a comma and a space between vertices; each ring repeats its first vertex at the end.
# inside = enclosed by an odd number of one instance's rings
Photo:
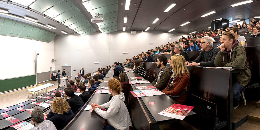
POLYGON ((186 64, 189 66, 215 66, 214 60, 219 52, 219 49, 213 47, 213 41, 209 36, 202 37, 201 39, 200 47, 202 51, 200 52, 198 58, 191 62, 186 61, 186 64))

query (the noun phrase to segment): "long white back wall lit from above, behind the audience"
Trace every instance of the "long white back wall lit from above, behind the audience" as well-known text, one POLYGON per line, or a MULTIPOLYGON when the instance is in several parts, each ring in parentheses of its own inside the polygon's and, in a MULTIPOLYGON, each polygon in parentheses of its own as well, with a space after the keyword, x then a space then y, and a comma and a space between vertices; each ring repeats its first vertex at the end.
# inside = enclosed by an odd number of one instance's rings
POLYGON ((131 34, 130 31, 116 31, 109 34, 95 32, 86 36, 78 34, 56 36, 54 38, 55 70, 61 70, 61 66, 68 64, 72 69, 72 77, 77 75, 81 68, 84 68, 85 74, 92 73, 97 68, 105 68, 107 64, 113 65, 115 61, 125 62, 125 59, 141 52, 155 49, 156 46, 167 42, 177 41, 182 36, 190 35, 159 31, 136 31, 136 34, 131 34), (148 44, 149 42, 153 44, 148 44), (73 72, 74 69, 76 72, 73 72))

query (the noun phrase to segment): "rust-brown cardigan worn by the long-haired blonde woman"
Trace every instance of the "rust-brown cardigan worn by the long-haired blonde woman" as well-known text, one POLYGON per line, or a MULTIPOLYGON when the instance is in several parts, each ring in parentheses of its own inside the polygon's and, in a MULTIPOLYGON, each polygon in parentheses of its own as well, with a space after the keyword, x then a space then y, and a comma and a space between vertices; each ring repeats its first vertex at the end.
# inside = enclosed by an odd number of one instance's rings
POLYGON ((180 94, 180 92, 182 92, 184 90, 184 88, 187 86, 187 91, 180 96, 178 99, 175 99, 177 102, 184 104, 184 102, 187 99, 188 96, 188 90, 190 89, 190 74, 184 74, 180 77, 176 77, 173 82, 175 83, 169 91, 166 91, 167 88, 165 88, 164 90, 162 90, 161 92, 165 93, 166 95, 172 95, 172 96, 177 96, 178 94, 180 94))

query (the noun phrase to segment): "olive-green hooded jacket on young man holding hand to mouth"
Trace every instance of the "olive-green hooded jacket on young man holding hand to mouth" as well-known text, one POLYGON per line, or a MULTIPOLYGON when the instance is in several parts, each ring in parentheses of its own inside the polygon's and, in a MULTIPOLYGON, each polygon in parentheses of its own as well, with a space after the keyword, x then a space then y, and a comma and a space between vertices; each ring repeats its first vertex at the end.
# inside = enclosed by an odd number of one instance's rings
POLYGON ((214 63, 215 66, 246 68, 246 70, 235 73, 235 77, 241 87, 246 86, 250 82, 251 71, 247 64, 246 51, 237 40, 235 40, 229 50, 226 49, 224 52, 219 51, 214 63))

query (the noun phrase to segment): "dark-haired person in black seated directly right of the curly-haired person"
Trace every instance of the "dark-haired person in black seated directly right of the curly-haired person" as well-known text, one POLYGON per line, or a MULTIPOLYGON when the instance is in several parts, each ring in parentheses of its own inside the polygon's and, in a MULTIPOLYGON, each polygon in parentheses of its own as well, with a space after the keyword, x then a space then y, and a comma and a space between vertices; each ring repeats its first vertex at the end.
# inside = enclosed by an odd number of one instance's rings
POLYGON ((69 103, 71 111, 75 113, 82 105, 84 105, 82 99, 74 94, 75 90, 72 87, 64 88, 64 99, 69 103))

